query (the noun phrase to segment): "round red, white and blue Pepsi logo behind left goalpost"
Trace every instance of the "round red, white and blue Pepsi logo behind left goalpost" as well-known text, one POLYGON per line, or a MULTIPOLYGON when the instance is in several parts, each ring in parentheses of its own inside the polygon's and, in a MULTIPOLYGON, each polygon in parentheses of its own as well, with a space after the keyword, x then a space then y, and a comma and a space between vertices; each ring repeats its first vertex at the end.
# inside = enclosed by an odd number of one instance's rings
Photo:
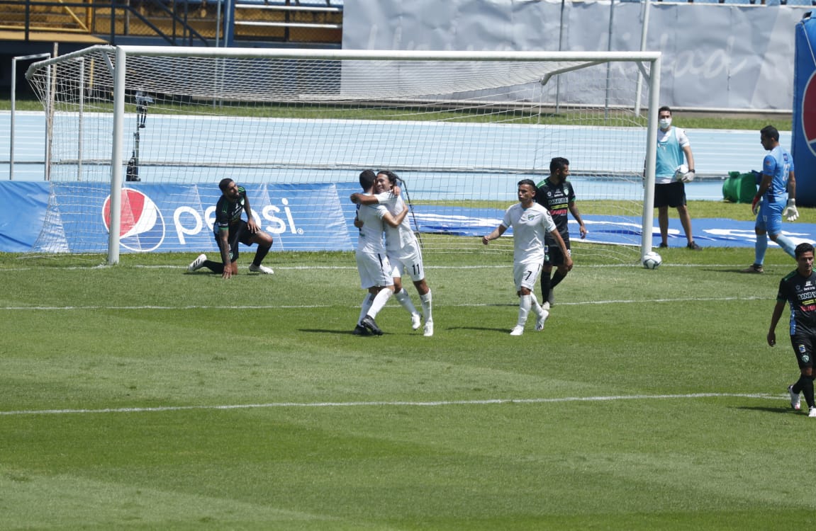
MULTIPOLYGON (((119 244, 135 252, 153 251, 165 238, 162 212, 147 195, 133 188, 122 188, 119 244)), ((110 231, 110 195, 102 205, 105 229, 110 231)))

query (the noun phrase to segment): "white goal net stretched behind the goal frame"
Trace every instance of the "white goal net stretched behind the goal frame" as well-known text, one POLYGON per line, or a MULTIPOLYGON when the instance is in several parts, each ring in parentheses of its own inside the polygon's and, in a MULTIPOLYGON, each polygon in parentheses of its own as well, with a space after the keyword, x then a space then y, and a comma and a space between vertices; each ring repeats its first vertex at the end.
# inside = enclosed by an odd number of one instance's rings
POLYGON ((42 61, 27 72, 49 130, 35 250, 215 251, 222 178, 246 187, 273 250, 353 249, 348 195, 361 170, 390 169, 426 253, 506 252, 511 238, 481 235, 559 156, 589 230, 570 217, 574 257, 635 263, 659 57, 92 46, 42 61))

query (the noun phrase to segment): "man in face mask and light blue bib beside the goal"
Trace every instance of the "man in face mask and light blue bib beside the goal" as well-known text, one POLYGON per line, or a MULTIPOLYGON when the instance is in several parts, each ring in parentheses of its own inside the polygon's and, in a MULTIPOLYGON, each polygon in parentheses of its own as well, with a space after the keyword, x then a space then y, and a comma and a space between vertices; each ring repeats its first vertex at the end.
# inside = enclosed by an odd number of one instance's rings
POLYGON ((679 127, 672 127, 672 109, 661 107, 658 114, 657 165, 654 169, 654 207, 658 209, 660 226, 660 247, 668 247, 668 208, 677 208, 681 225, 685 230, 686 248, 699 251, 691 234, 691 216, 685 206, 685 183, 694 178, 694 155, 691 153, 689 138, 679 127), (688 169, 680 170, 683 165, 688 169), (680 171, 678 171, 680 170, 680 171))

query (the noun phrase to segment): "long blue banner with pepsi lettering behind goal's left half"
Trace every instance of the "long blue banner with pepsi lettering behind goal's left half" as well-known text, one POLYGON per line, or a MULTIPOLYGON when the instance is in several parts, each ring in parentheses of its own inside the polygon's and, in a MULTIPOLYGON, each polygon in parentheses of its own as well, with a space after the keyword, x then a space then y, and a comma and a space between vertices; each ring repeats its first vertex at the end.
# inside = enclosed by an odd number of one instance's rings
MULTIPOLYGON (((21 184, 0 184, 0 247, 10 252, 107 251, 108 184, 21 184)), ((348 251, 357 242, 356 207, 348 195, 358 188, 355 183, 250 184, 246 195, 255 221, 273 235, 273 250, 348 251)), ((121 252, 217 251, 212 225, 220 195, 211 184, 127 183, 121 252)))

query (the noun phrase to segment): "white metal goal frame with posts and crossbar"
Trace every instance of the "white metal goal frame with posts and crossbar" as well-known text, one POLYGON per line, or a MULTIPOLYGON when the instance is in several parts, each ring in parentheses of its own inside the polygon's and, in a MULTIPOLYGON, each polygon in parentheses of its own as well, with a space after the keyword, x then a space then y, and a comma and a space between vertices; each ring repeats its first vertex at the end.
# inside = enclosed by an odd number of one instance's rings
MULTIPOLYGON (((96 50, 106 50, 108 68, 114 78, 113 85, 113 138, 111 151, 110 175, 110 227, 108 241, 109 264, 117 264, 120 251, 120 209, 123 182, 123 162, 126 161, 126 71, 127 61, 133 56, 172 56, 190 58, 238 58, 238 59, 326 59, 326 60, 392 60, 392 61, 503 61, 503 62, 559 62, 565 66, 553 72, 557 76, 614 62, 636 64, 639 74, 648 85, 647 94, 647 130, 645 145, 644 196, 641 220, 642 237, 640 256, 645 256, 652 247, 652 226, 654 222, 654 163, 657 145, 657 116, 659 108, 659 86, 661 53, 657 51, 631 52, 553 52, 553 51, 419 51, 419 50, 286 50, 261 48, 199 48, 184 46, 91 46, 96 50), (113 60, 110 60, 113 59, 113 60)), ((29 81, 33 73, 42 68, 59 68, 60 62, 78 59, 87 50, 79 50, 57 58, 40 61, 31 65, 26 77, 29 81)), ((551 77, 552 77, 551 76, 551 77)), ((641 86, 637 86, 636 98, 641 97, 641 86)), ((54 90, 51 87, 51 90, 54 90)), ((132 90, 132 87, 131 87, 132 90)), ((632 92, 635 92, 633 83, 632 92)), ((53 94, 40 94, 44 102, 53 98, 53 94)), ((48 108, 48 106, 47 106, 48 108)), ((639 112, 641 102, 637 101, 632 112, 639 112)))

